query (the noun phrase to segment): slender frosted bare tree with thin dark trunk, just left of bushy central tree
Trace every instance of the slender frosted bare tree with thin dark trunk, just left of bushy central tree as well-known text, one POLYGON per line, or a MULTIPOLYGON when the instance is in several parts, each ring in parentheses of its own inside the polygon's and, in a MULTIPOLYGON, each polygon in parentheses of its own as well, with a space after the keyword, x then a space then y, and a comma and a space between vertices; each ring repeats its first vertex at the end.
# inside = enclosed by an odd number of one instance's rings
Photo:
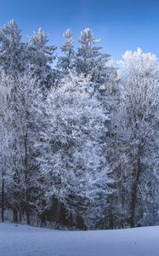
POLYGON ((33 208, 31 190, 34 188, 34 172, 36 172, 36 152, 32 148, 32 144, 36 139, 37 109, 42 102, 42 94, 37 79, 33 78, 32 73, 19 75, 15 83, 14 127, 18 134, 18 137, 15 138, 18 162, 16 161, 15 164, 17 165, 17 172, 19 172, 17 178, 20 178, 19 183, 24 193, 23 207, 26 211, 27 223, 30 224, 30 213, 33 208))

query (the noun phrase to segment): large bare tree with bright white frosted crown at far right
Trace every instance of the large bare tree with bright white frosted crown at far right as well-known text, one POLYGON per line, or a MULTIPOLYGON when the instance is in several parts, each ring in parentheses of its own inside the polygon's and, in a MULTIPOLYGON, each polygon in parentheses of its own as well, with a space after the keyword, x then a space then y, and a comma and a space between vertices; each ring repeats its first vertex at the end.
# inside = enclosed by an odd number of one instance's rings
POLYGON ((153 223, 157 212, 159 67, 156 56, 141 49, 126 52, 121 65, 122 98, 113 134, 116 211, 133 227, 153 223))

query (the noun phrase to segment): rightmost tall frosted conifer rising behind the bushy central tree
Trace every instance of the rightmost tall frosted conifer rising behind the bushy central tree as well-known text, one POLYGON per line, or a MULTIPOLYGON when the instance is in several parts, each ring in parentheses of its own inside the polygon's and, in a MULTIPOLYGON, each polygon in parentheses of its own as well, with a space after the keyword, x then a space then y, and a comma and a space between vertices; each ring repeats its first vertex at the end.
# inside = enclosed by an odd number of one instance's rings
POLYGON ((102 47, 96 46, 99 42, 100 39, 94 38, 91 29, 86 28, 81 32, 75 67, 77 74, 91 75, 91 80, 95 84, 94 91, 96 91, 99 101, 105 111, 111 113, 119 95, 119 76, 111 55, 102 53, 102 47))

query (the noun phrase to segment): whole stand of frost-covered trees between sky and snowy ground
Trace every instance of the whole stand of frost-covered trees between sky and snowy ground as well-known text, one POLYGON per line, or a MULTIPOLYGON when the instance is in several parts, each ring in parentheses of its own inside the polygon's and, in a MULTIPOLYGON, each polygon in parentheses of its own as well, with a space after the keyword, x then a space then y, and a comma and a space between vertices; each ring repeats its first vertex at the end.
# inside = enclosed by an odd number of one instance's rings
MULTIPOLYGON (((121 61, 91 29, 49 44, 0 28, 2 221, 94 230, 156 223, 159 63, 141 49, 121 61)), ((54 36, 55 37, 55 36, 54 36)))

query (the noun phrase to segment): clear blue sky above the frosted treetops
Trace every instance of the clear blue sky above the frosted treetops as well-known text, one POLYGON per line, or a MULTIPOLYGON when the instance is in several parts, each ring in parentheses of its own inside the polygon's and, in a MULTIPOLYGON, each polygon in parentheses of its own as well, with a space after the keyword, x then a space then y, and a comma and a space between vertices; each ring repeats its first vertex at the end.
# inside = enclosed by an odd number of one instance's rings
POLYGON ((0 0, 0 26, 11 19, 24 40, 42 27, 50 43, 59 45, 67 28, 77 39, 91 27, 115 59, 137 47, 159 57, 159 0, 0 0))

